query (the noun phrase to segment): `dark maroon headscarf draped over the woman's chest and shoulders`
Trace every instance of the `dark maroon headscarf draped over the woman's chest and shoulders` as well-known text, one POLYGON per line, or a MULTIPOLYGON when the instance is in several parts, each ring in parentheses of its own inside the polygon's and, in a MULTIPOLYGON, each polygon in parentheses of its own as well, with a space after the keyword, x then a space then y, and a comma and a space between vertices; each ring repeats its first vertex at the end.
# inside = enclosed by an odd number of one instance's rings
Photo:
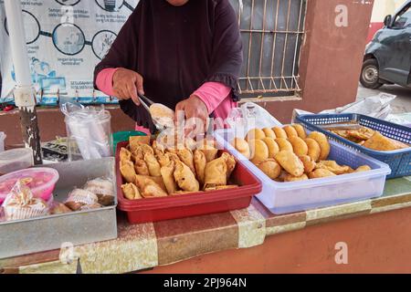
MULTIPOLYGON (((207 81, 224 83, 237 100, 241 65, 241 36, 228 0, 190 0, 182 6, 141 0, 94 79, 104 68, 134 70, 144 78, 148 98, 174 109, 207 81)), ((152 126, 132 99, 120 105, 140 126, 152 126)))

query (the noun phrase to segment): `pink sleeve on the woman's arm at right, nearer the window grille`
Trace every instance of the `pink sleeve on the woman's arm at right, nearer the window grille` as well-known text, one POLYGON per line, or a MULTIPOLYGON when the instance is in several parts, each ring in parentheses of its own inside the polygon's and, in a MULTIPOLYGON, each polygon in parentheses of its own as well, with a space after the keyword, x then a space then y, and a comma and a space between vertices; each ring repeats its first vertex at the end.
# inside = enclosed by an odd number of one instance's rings
POLYGON ((205 82, 203 86, 195 90, 194 95, 203 100, 211 114, 231 94, 231 89, 220 82, 205 82))

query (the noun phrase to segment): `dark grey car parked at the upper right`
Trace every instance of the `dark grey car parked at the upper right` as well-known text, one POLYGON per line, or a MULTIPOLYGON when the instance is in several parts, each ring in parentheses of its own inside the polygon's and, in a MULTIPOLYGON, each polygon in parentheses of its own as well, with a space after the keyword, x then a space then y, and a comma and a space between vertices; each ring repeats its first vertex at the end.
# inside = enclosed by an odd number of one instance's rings
POLYGON ((360 82, 367 89, 383 84, 411 88, 411 0, 395 16, 385 16, 384 27, 365 49, 360 82))

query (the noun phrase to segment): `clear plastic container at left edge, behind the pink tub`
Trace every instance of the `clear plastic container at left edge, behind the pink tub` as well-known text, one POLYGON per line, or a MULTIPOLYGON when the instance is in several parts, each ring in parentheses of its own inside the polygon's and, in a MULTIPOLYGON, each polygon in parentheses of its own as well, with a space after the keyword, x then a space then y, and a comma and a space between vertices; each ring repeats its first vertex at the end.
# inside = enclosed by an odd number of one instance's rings
POLYGON ((33 151, 18 148, 0 152, 0 175, 24 170, 34 165, 33 151))

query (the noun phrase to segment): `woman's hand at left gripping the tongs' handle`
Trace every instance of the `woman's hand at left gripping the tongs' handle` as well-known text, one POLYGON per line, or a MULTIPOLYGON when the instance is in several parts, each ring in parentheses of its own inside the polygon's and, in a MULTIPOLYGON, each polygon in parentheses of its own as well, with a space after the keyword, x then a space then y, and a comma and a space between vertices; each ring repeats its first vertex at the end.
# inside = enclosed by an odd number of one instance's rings
POLYGON ((144 95, 142 86, 142 76, 132 70, 119 68, 112 77, 112 89, 118 99, 132 99, 134 103, 140 106, 140 99, 137 94, 144 95))

